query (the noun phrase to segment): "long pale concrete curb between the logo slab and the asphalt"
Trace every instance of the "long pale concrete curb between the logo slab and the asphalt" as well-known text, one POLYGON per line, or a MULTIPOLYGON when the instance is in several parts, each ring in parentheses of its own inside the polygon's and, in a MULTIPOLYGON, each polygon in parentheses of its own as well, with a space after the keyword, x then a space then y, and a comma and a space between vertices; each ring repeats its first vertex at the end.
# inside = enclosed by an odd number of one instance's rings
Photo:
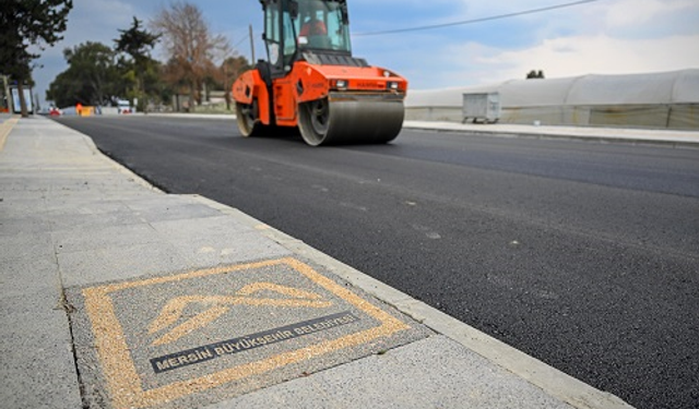
POLYGON ((629 409, 632 408, 618 397, 594 387, 530 357, 457 318, 436 310, 424 302, 384 285, 366 274, 311 248, 245 213, 200 195, 191 195, 198 202, 249 226, 292 250, 322 265, 333 274, 360 288, 377 299, 394 306, 402 313, 442 334, 483 358, 524 378, 546 394, 579 409, 629 409))

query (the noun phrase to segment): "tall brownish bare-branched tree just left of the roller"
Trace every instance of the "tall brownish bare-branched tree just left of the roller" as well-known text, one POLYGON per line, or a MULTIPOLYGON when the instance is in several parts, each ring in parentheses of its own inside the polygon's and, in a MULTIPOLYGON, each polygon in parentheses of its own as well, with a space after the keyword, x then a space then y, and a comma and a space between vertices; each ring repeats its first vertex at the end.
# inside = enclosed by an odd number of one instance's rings
POLYGON ((222 35, 213 35, 201 10, 188 2, 176 2, 170 9, 162 9, 151 23, 161 35, 168 53, 167 77, 174 86, 186 83, 189 87, 189 106, 201 104, 201 87, 214 72, 215 51, 229 48, 222 35))

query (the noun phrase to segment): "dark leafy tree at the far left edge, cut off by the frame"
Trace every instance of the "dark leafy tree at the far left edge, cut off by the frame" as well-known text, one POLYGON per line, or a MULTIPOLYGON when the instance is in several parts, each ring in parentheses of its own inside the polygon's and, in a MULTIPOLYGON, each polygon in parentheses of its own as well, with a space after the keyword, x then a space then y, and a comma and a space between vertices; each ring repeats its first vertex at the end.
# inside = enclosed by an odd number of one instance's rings
POLYGON ((24 82, 31 81, 32 61, 39 57, 29 46, 44 50, 63 37, 72 0, 12 0, 0 7, 0 72, 17 82, 22 117, 27 117, 24 82))

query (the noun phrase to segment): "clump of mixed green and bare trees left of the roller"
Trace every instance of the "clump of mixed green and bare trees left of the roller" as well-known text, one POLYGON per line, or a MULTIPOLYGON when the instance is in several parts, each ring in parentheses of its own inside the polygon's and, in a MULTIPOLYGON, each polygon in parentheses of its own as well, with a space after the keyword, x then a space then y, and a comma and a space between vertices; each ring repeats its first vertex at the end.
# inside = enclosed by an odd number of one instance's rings
POLYGON ((190 101, 202 104, 209 91, 224 89, 229 107, 233 82, 251 67, 236 56, 225 37, 210 33, 201 11, 178 2, 171 10, 162 10, 151 27, 159 34, 149 32, 134 16, 129 28, 118 31, 114 48, 87 41, 67 49, 69 68, 50 84, 47 98, 59 107, 138 99, 143 111, 149 104, 169 104, 174 95, 183 93, 190 101), (170 53, 166 63, 151 57, 161 38, 170 53), (182 50, 188 50, 187 58, 182 50))

